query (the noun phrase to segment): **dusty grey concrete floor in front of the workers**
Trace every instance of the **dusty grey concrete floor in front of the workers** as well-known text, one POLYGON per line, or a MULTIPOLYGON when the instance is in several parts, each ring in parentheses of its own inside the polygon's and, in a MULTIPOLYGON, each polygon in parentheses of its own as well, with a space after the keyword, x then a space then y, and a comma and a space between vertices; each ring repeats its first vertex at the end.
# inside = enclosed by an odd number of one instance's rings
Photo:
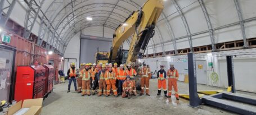
MULTIPOLYGON (((188 93, 188 84, 178 82, 179 93, 188 93)), ((218 108, 200 105, 199 108, 188 107, 188 100, 168 99, 156 96, 157 79, 150 80, 151 96, 133 96, 131 99, 96 95, 80 96, 75 93, 74 85, 71 92, 66 93, 68 83, 55 85, 53 92, 43 102, 42 114, 234 114, 218 108)), ((197 85, 198 90, 219 90, 206 85, 197 85)), ((226 89, 221 89, 226 90, 226 89)), ((249 93, 250 94, 250 93, 249 93)), ((254 95, 255 94, 251 94, 254 95)))

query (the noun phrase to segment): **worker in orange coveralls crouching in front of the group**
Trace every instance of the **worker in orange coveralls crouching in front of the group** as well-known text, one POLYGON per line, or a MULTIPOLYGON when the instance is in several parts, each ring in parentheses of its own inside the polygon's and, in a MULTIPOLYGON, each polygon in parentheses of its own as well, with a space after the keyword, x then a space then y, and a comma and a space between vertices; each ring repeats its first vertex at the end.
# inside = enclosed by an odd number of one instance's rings
POLYGON ((123 83, 123 94, 122 97, 125 98, 128 96, 128 99, 131 98, 132 95, 132 91, 133 91, 133 82, 130 79, 130 76, 127 75, 126 80, 123 83))

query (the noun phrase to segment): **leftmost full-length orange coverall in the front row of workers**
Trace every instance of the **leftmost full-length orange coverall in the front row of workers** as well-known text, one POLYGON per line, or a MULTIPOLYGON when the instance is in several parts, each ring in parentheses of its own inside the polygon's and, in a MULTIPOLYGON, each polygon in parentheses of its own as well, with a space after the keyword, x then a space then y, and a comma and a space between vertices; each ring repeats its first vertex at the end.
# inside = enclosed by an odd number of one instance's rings
POLYGON ((82 78, 82 95, 91 95, 90 93, 90 77, 91 77, 91 70, 83 71, 83 78, 82 78))

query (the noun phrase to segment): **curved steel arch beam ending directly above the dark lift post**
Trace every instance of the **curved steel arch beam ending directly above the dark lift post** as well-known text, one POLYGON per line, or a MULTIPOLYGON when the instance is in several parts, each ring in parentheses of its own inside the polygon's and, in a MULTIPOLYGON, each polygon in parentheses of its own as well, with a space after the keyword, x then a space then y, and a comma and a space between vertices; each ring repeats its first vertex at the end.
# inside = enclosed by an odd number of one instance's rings
POLYGON ((176 0, 173 0, 173 4, 174 4, 176 10, 179 13, 179 16, 181 16, 181 20, 183 22, 183 25, 185 26, 185 29, 186 29, 186 32, 187 32, 187 35, 188 35, 188 43, 190 44, 190 52, 193 52, 192 36, 191 36, 191 33, 190 33, 190 27, 188 26, 186 17, 184 16, 183 12, 181 11, 181 8, 179 7, 176 0))

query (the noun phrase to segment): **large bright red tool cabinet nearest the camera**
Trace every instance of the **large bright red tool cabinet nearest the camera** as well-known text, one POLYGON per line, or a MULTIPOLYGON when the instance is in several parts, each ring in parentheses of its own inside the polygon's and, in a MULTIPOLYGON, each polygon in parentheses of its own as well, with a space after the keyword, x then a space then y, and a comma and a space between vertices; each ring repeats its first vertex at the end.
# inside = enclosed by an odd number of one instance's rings
POLYGON ((15 100, 43 98, 46 69, 43 66, 18 66, 15 100))

